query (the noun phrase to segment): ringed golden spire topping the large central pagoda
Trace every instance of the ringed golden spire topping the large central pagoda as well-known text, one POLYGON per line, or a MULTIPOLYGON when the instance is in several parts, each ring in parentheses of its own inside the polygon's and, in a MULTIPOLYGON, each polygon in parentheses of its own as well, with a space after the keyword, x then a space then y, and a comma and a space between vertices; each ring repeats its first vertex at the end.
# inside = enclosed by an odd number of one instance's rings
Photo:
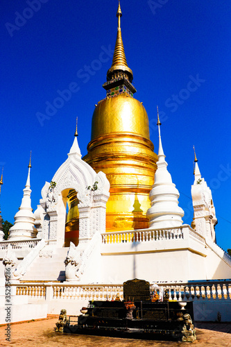
POLYGON ((121 7, 120 7, 120 1, 119 6, 117 10, 117 17, 118 17, 118 28, 117 28, 117 41, 114 47, 114 56, 112 60, 112 67, 108 70, 107 78, 108 81, 111 79, 114 79, 114 75, 119 71, 124 71, 124 73, 128 76, 128 80, 132 82, 133 74, 132 70, 129 69, 126 56, 124 53, 124 47, 123 47, 123 40, 121 35, 121 7))

